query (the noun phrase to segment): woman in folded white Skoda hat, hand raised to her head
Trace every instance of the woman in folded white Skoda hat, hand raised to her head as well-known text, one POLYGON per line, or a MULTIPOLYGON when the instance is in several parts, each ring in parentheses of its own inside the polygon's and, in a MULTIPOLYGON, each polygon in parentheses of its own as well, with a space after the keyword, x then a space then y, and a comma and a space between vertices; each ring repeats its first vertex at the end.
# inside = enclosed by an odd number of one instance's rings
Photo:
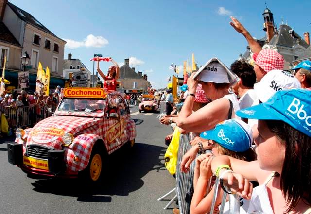
MULTIPOLYGON (((186 132, 203 132, 213 129, 221 121, 235 117, 235 112, 240 108, 235 94, 228 94, 228 72, 228 68, 223 64, 214 61, 206 65, 206 68, 202 70, 195 80, 193 79, 194 74, 188 78, 189 90, 184 106, 178 116, 178 127, 186 132), (195 92, 199 82, 201 82, 206 96, 213 101, 192 113, 193 92, 195 92)), ((192 148, 182 158, 180 165, 182 171, 187 172, 201 144, 205 150, 210 148, 208 142, 202 141, 200 138, 192 141, 192 148)))

